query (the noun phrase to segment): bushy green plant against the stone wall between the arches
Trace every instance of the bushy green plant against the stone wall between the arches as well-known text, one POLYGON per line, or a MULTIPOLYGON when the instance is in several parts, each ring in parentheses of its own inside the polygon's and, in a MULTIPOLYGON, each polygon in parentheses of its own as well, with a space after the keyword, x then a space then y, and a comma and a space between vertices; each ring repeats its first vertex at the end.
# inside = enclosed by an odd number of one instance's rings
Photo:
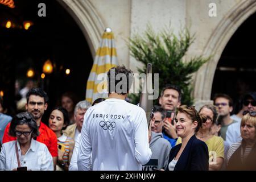
MULTIPOLYGON (((191 36, 187 28, 176 36, 169 29, 156 34, 151 26, 147 26, 143 36, 135 35, 129 39, 129 48, 131 56, 144 65, 138 68, 139 73, 146 73, 148 63, 152 63, 152 73, 159 73, 159 94, 166 84, 178 85, 183 95, 181 103, 192 105, 192 73, 210 59, 196 56, 183 60, 194 40, 195 36, 191 36)), ((138 94, 130 94, 129 97, 134 104, 139 102, 138 94)))

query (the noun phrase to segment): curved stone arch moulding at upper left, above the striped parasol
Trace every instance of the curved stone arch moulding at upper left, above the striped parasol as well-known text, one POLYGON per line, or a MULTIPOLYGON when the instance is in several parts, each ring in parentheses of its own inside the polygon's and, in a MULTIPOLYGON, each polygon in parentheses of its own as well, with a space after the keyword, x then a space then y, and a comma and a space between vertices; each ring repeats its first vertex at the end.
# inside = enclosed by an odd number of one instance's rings
POLYGON ((90 1, 57 0, 79 25, 93 57, 100 44, 105 26, 90 1))

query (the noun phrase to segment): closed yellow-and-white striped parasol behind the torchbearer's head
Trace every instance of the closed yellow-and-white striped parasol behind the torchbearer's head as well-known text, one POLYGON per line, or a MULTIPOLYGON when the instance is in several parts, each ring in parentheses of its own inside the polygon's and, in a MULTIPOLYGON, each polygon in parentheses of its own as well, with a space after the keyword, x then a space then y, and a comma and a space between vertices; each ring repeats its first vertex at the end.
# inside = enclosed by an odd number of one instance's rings
POLYGON ((100 47, 97 49, 92 70, 86 85, 86 101, 93 102, 97 98, 107 98, 106 81, 102 76, 110 68, 117 66, 117 51, 115 49, 114 35, 110 28, 106 28, 102 35, 100 47))

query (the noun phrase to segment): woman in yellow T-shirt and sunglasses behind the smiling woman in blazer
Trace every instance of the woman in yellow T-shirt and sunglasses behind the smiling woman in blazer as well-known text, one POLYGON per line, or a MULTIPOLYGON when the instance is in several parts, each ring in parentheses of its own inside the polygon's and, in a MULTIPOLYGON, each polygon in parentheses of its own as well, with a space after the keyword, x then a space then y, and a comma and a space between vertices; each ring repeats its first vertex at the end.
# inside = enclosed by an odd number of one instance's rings
MULTIPOLYGON (((202 123, 199 131, 196 133, 196 138, 204 141, 207 144, 209 151, 209 171, 220 170, 224 162, 224 140, 212 134, 212 127, 217 122, 217 109, 214 105, 204 105, 199 110, 199 114, 207 118, 202 123)), ((181 143, 181 138, 177 140, 177 144, 181 143)))

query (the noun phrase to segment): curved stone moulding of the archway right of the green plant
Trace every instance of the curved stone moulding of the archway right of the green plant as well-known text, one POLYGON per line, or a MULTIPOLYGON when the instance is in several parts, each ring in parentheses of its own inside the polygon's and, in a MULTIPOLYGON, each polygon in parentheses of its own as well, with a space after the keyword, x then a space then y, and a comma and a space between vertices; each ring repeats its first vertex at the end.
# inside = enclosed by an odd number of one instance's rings
POLYGON ((221 53, 224 51, 226 44, 229 42, 234 32, 236 32, 237 28, 255 12, 255 0, 238 3, 236 7, 230 10, 224 19, 221 20, 212 32, 212 35, 210 35, 210 38, 204 47, 203 54, 205 56, 213 55, 213 57, 212 60, 205 64, 195 76, 194 97, 196 106, 200 107, 212 102, 210 101, 212 83, 221 53))

